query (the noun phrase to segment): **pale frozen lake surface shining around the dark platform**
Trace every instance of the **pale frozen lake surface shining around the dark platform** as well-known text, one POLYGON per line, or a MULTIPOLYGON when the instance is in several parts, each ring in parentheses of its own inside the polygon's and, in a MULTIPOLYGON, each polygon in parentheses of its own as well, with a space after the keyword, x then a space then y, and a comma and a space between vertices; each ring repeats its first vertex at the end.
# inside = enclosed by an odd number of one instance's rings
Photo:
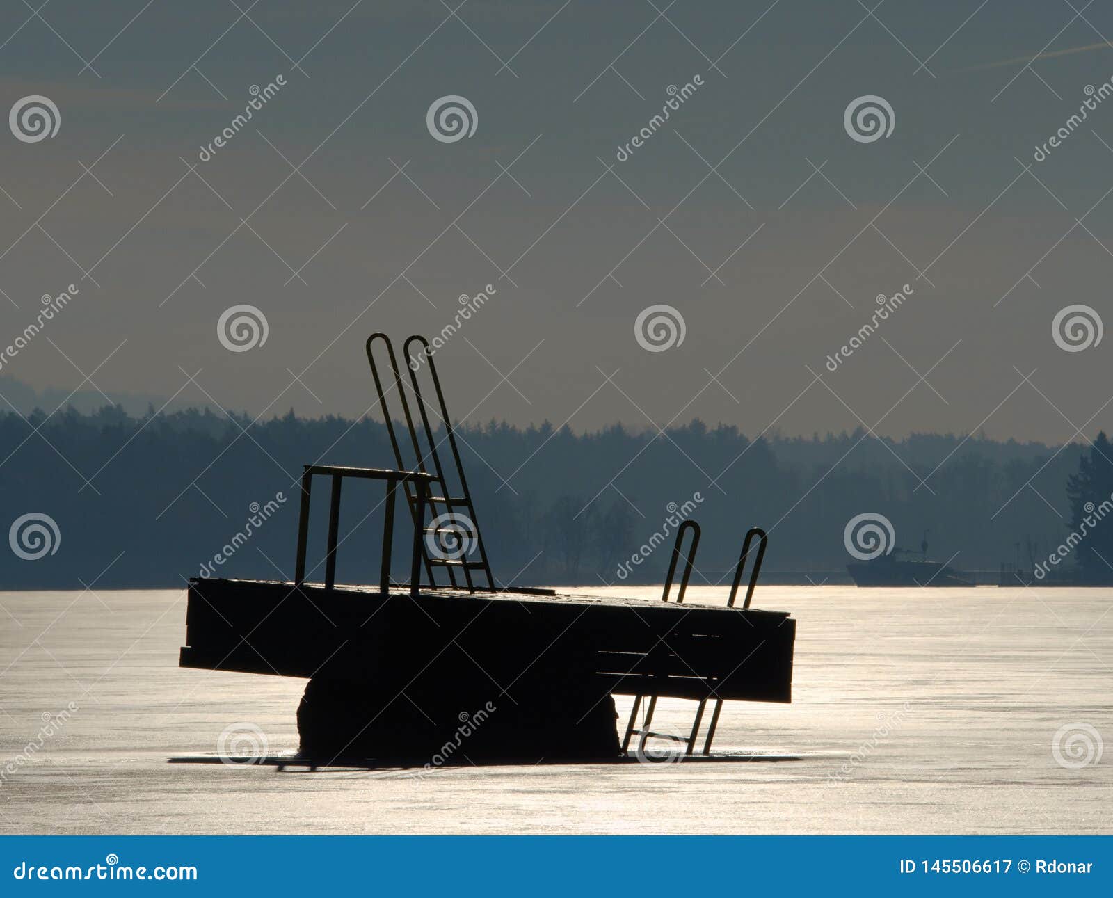
MULTIPOLYGON (((171 762, 245 722, 293 753, 304 681, 179 669, 185 590, 0 593, 0 831, 1113 832, 1113 590, 766 586, 755 606, 798 622, 794 702, 728 703, 715 748, 797 760, 416 779, 171 762)), ((654 729, 693 708, 662 701, 654 729)))

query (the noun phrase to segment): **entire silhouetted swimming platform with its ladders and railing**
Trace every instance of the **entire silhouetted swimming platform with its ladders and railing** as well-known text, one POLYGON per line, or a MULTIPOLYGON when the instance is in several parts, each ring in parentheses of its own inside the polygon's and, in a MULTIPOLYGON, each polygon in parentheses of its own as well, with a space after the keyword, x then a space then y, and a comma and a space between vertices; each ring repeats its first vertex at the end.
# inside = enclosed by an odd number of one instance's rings
POLYGON ((767 544, 762 531, 746 534, 726 608, 682 604, 699 542, 692 521, 677 534, 663 602, 501 588, 491 573, 429 343, 417 336, 406 341, 408 383, 386 335, 372 335, 366 351, 397 467, 306 465, 294 580, 190 580, 181 667, 308 678, 298 709, 302 752, 326 761, 436 759, 456 750, 487 760, 607 758, 624 752, 634 734, 639 753, 647 739, 666 739, 691 754, 705 707, 712 702, 708 754, 725 700, 791 701, 796 622, 785 612, 749 606, 767 544), (387 353, 390 379, 376 364, 376 342, 387 353), (414 344, 423 348, 417 358, 411 355, 414 344), (423 367, 435 404, 422 394, 423 367), (396 395, 400 416, 392 415, 388 395, 396 395), (398 440, 402 423, 408 443, 398 440), (444 444, 453 483, 439 452, 444 444), (312 582, 309 506, 314 478, 322 476, 332 486, 328 533, 324 579, 312 582), (336 583, 341 494, 352 478, 385 485, 376 585, 336 583), (405 583, 392 579, 400 493, 412 523, 405 583), (689 531, 682 580, 669 601, 689 531), (742 606, 735 608, 755 537, 749 586, 742 606), (614 694, 636 697, 621 743, 614 694), (650 729, 659 697, 698 702, 689 737, 650 729))

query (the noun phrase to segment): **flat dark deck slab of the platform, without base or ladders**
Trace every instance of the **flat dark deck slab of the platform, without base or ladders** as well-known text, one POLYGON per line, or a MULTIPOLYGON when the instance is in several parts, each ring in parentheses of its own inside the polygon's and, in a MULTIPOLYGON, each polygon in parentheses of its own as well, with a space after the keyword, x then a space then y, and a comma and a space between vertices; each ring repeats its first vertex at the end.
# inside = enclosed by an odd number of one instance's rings
POLYGON ((777 611, 195 579, 186 626, 186 668, 404 682, 477 665, 510 683, 548 655, 587 663, 601 692, 791 701, 796 621, 777 611))

